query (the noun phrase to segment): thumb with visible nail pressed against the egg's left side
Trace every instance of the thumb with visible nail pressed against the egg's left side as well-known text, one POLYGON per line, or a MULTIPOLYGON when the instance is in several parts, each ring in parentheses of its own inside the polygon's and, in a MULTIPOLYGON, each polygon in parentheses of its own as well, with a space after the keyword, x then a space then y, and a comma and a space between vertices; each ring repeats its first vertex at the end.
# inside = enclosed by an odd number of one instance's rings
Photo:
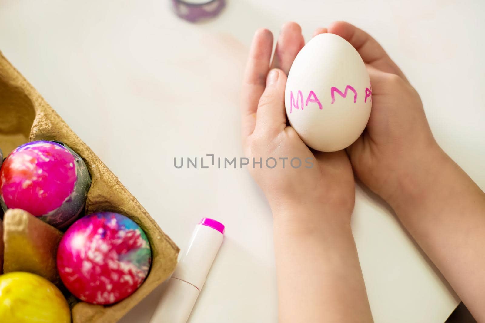
POLYGON ((272 69, 259 100, 255 132, 272 135, 285 129, 285 86, 286 74, 280 69, 272 69))

